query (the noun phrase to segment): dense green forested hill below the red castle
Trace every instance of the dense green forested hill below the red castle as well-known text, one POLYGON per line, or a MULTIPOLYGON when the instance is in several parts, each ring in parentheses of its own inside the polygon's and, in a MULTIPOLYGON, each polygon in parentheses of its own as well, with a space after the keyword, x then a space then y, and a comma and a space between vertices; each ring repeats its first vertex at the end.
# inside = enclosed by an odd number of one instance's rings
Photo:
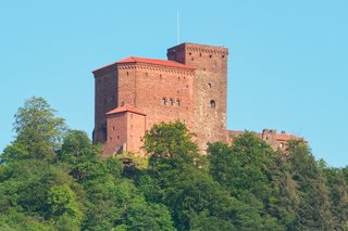
POLYGON ((275 152, 250 132, 198 153, 175 121, 145 137, 148 159, 100 158, 42 98, 15 115, 0 156, 0 230, 348 230, 348 167, 306 143, 275 152))

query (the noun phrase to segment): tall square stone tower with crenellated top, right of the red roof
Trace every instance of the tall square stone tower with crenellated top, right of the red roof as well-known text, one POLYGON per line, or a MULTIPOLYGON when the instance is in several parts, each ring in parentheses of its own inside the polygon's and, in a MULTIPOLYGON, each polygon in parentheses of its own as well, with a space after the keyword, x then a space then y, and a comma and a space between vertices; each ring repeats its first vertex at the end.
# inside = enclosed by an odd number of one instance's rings
POLYGON ((199 147, 226 139, 226 86, 228 49, 182 43, 167 49, 167 59, 196 68, 192 80, 192 131, 199 147))

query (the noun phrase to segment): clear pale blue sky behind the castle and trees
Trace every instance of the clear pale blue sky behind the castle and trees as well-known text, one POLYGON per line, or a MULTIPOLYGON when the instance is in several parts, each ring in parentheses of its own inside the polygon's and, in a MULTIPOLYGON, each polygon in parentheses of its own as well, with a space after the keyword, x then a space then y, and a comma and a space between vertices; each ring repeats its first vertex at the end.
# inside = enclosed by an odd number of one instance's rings
POLYGON ((347 0, 32 0, 0 2, 0 150, 13 115, 44 97, 73 129, 94 126, 91 70, 165 59, 181 42, 225 46, 227 128, 285 130, 348 165, 347 0))

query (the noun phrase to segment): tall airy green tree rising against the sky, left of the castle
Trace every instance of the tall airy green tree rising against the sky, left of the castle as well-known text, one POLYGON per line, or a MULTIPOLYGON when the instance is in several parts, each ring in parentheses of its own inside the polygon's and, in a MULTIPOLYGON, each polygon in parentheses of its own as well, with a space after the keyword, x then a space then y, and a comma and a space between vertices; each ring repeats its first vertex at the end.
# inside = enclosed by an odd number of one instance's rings
POLYGON ((14 118, 15 141, 4 150, 2 162, 54 155, 65 131, 64 119, 55 117, 55 111, 44 98, 30 98, 20 107, 14 118))

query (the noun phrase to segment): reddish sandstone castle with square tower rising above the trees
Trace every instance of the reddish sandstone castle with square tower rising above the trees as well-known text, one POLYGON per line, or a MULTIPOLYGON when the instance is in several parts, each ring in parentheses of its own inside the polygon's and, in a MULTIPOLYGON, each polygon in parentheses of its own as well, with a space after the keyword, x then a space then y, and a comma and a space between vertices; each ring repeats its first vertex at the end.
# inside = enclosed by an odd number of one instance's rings
MULTIPOLYGON (((228 49, 182 43, 167 49, 167 60, 129 56, 94 70, 94 143, 103 154, 139 153, 153 124, 181 120, 208 142, 231 142, 244 131, 226 130, 228 49)), ((298 139, 264 129, 256 133, 274 149, 298 139)))

